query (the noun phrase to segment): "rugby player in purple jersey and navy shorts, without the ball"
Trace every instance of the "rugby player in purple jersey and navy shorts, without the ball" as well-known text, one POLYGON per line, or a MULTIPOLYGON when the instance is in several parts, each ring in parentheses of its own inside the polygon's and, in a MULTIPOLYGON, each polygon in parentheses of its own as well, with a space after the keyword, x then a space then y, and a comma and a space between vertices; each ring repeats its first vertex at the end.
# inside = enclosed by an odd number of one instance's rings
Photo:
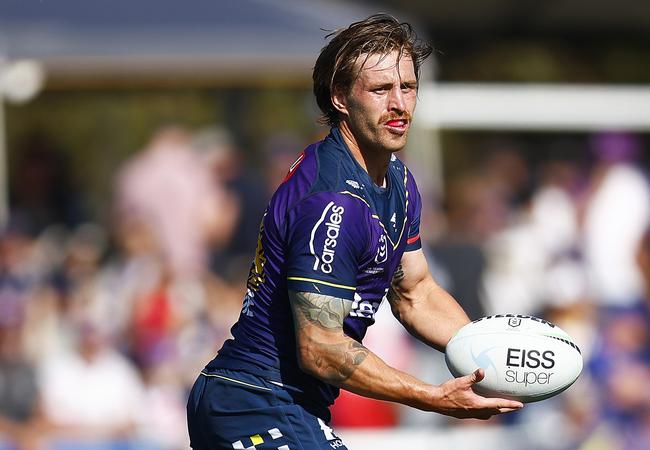
POLYGON ((458 418, 523 406, 476 395, 481 369, 431 385, 362 344, 384 300, 440 351, 469 322, 429 273, 420 195, 394 155, 430 53, 387 15, 339 30, 322 49, 314 94, 331 132, 300 154, 264 214, 234 339, 190 394, 195 450, 345 449, 328 425, 339 388, 458 418))

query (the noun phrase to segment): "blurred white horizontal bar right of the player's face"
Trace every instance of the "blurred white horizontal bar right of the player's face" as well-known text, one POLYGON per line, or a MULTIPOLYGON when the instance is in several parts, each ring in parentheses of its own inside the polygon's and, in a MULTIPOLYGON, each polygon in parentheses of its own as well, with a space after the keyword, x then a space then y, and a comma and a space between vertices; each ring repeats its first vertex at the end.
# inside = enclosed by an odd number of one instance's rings
POLYGON ((429 82, 418 103, 429 129, 650 131, 650 86, 429 82))

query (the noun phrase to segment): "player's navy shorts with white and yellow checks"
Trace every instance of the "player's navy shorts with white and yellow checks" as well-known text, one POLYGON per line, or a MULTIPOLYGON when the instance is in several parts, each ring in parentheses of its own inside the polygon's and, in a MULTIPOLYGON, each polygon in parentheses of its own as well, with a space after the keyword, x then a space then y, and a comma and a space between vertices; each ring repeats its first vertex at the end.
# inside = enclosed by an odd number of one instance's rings
POLYGON ((246 372, 202 372, 187 404, 194 450, 347 450, 289 392, 246 372))

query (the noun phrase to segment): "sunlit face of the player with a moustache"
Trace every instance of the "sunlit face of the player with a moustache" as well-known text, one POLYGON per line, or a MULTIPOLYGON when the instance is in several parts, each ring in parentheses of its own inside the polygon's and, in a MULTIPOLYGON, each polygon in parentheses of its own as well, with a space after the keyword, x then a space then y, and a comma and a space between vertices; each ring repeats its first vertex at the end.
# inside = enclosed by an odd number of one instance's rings
POLYGON ((417 78, 409 55, 365 55, 365 64, 350 92, 336 93, 332 102, 343 114, 341 127, 349 128, 361 149, 396 152, 406 137, 417 100, 417 78))

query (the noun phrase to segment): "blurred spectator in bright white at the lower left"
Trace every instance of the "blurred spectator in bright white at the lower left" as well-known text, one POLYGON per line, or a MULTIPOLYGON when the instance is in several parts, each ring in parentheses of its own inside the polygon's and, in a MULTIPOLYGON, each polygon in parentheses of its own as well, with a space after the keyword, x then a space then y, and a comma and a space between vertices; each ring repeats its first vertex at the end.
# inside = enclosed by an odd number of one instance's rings
POLYGON ((134 439, 144 394, 138 372, 90 321, 69 325, 72 348, 39 369, 47 421, 62 441, 134 439))

